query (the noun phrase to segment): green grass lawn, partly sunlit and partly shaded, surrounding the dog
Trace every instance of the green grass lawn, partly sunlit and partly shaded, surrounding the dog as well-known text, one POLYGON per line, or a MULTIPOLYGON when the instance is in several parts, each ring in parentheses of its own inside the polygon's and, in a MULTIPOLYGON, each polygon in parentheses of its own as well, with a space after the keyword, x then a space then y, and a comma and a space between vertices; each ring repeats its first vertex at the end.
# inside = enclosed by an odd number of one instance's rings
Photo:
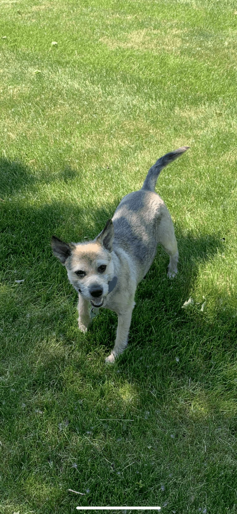
POLYGON ((0 512, 237 512, 236 84, 233 0, 0 1, 0 512), (116 316, 78 331, 50 237, 94 238, 182 145, 179 274, 159 248, 105 366, 116 316))

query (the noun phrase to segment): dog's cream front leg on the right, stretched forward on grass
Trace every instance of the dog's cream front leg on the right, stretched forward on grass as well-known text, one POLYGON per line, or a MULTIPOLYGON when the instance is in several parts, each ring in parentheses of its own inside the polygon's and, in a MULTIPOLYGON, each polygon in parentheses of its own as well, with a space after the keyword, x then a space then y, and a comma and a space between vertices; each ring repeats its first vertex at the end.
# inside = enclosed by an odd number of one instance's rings
POLYGON ((128 344, 128 333, 131 324, 132 310, 135 303, 128 307, 126 313, 118 314, 117 334, 111 354, 106 357, 105 362, 114 362, 117 355, 122 354, 128 344))

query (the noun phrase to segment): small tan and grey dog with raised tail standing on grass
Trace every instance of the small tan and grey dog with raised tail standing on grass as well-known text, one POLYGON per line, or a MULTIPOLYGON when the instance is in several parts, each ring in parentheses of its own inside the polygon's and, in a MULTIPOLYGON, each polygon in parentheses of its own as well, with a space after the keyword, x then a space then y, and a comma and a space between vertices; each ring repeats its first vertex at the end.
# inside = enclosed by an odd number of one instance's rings
POLYGON ((161 170, 188 148, 182 146, 158 159, 142 188, 121 200, 93 241, 68 244, 52 236, 53 253, 66 266, 69 281, 78 292, 80 330, 87 332, 101 307, 118 315, 115 344, 106 362, 113 362, 127 346, 136 287, 149 270, 158 244, 170 256, 168 277, 177 273, 179 252, 173 223, 155 185, 161 170))

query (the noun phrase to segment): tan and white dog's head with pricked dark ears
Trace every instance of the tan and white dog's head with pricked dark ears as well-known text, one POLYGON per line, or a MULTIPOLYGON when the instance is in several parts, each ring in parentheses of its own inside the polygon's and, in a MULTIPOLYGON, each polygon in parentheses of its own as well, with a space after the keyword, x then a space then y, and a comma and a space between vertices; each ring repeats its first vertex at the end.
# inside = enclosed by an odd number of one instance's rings
POLYGON ((101 307, 113 278, 113 223, 109 219, 104 230, 87 243, 64 243, 52 236, 51 247, 57 259, 66 267, 68 278, 76 291, 101 307))

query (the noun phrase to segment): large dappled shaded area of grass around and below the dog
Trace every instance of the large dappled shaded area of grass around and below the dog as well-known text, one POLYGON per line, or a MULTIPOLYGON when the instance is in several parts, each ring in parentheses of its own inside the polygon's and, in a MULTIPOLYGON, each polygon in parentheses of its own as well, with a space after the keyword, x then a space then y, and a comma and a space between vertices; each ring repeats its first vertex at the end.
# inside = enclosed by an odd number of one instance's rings
MULTIPOLYGON (((13 189, 19 191, 28 171, 24 175, 22 167, 17 175, 15 165, 13 170, 13 189)), ((32 184, 29 178, 28 187, 32 184)), ((226 350, 235 349, 235 321, 227 322, 224 311, 218 319, 210 320, 200 309, 182 309, 200 263, 211 261, 216 248, 222 250, 223 242, 219 234, 183 234, 182 227, 176 227, 179 275, 168 280, 168 257, 158 248, 136 291, 129 348, 114 366, 105 367, 105 355, 115 338, 116 316, 104 310, 86 335, 78 332, 76 293, 66 270, 52 255, 50 236, 67 241, 93 238, 116 206, 114 202, 92 214, 90 207, 85 211, 68 201, 38 207, 23 203, 17 196, 14 203, 1 205, 6 286, 4 300, 2 297, 2 380, 6 387, 1 408, 11 445, 10 468, 5 472, 2 491, 5 498, 11 498, 18 487, 19 497, 47 512, 44 487, 49 484, 56 487, 58 509, 62 500, 69 509, 77 500, 67 497, 67 489, 78 490, 79 471, 82 492, 90 489, 90 497, 82 497, 79 505, 95 505, 96 490, 100 487, 104 491, 106 484, 105 504, 126 501, 152 505, 164 503, 167 497, 171 505, 173 494, 174 508, 179 490, 179 505, 183 509, 189 505, 189 511, 194 512, 201 500, 192 500, 192 484, 204 502, 206 493, 202 491, 212 490, 213 477, 227 472, 230 480, 235 466, 236 423, 229 421, 231 410, 236 408, 235 376, 230 387, 231 369, 226 359, 226 350), (16 278, 25 282, 13 290, 16 278), (6 382, 5 369, 10 369, 6 382), (225 419, 222 413, 216 415, 221 409, 227 413, 225 419), (223 464, 226 447, 221 442, 222 463, 216 463, 219 426, 228 440, 228 469, 223 464), (127 441, 132 441, 132 461, 127 441), (210 453, 203 449, 205 445, 210 453), (194 469, 191 474, 186 463, 194 469), (208 474, 205 466, 212 467, 213 472, 208 474), (36 468, 41 470, 37 484, 33 480, 36 468), (9 493, 12 469, 17 484, 9 493), (185 477, 183 486, 181 475, 185 477), (169 492, 172 480, 174 493, 169 492), (166 492, 160 485, 161 492, 157 488, 149 492, 154 484, 163 483, 168 484, 166 492), (37 489, 34 501, 33 489, 37 489), (121 496, 119 491, 123 491, 121 496)), ((219 494, 223 505, 233 504, 231 491, 225 499, 223 481, 213 494, 219 494)))

